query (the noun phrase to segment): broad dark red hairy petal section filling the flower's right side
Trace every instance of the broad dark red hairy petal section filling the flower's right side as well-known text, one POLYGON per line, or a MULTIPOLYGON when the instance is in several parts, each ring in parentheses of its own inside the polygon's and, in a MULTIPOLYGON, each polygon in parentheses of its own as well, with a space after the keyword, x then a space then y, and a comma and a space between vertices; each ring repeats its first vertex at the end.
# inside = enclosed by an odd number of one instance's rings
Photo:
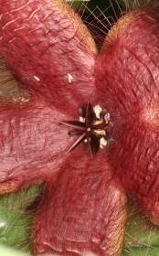
MULTIPOLYGON (((97 60, 113 123, 110 161, 127 193, 159 223, 159 15, 138 10, 112 27, 97 60)), ((106 106, 106 107, 107 107, 106 106)))

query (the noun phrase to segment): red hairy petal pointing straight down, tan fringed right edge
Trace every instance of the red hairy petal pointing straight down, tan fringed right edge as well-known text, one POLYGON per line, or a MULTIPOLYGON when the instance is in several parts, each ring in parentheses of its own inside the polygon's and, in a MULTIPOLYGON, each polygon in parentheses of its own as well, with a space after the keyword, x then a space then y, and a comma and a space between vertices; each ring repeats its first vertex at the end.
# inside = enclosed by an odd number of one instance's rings
MULTIPOLYGON (((80 155, 80 151, 79 151, 80 155)), ((121 255, 126 201, 101 157, 72 155, 45 187, 33 224, 32 251, 58 255, 121 255)))

